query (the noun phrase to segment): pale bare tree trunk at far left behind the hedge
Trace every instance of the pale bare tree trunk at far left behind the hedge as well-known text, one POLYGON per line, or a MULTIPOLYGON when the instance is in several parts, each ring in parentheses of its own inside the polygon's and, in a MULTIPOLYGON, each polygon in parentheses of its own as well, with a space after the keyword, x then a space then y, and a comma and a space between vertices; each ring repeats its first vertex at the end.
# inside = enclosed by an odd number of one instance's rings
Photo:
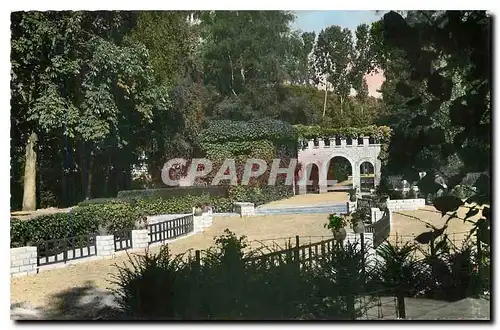
POLYGON ((36 210, 36 151, 38 136, 31 133, 26 143, 24 164, 23 211, 36 210))

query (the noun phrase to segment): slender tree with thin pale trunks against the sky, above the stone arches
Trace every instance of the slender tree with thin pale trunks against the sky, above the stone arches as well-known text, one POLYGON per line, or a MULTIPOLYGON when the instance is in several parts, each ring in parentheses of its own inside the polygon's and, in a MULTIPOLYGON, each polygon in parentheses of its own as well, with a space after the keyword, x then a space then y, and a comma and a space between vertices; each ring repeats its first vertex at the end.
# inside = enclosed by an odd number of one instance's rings
POLYGON ((318 41, 314 47, 314 71, 315 82, 323 82, 325 85, 325 106, 323 116, 326 113, 327 89, 330 85, 340 99, 340 113, 343 113, 344 101, 351 92, 350 68, 353 63, 352 34, 349 29, 341 29, 340 26, 330 26, 318 35, 318 41))

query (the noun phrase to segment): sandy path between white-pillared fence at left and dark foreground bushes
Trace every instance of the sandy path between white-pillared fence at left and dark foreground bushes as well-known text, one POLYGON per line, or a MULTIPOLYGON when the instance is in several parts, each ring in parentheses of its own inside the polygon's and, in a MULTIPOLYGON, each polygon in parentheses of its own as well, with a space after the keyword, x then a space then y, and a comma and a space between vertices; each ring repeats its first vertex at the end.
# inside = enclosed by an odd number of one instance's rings
MULTIPOLYGON (((173 254, 189 249, 206 249, 213 245, 213 238, 222 235, 229 228, 236 235, 246 235, 252 248, 262 244, 272 245, 269 239, 276 239, 284 245, 287 238, 295 239, 299 234, 301 241, 320 241, 331 237, 323 227, 327 214, 311 215, 273 215, 255 217, 214 217, 213 225, 204 233, 179 239, 169 244, 173 254), (312 236, 312 237, 311 237, 312 236), (267 241, 266 241, 267 240, 267 241)), ((152 248, 157 252, 159 247, 152 248)), ((123 265, 128 260, 126 254, 118 254, 115 259, 105 259, 72 265, 66 268, 47 270, 36 275, 13 278, 11 280, 11 302, 28 302, 32 306, 43 306, 59 291, 84 286, 88 282, 106 289, 110 287, 110 274, 116 273, 116 263, 123 265)))

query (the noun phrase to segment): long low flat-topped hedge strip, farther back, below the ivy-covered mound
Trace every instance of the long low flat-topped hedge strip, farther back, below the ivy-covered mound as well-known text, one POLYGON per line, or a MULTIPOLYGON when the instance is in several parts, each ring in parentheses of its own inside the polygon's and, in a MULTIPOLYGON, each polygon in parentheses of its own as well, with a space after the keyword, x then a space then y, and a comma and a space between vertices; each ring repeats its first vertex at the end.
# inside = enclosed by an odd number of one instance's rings
POLYGON ((122 190, 118 192, 118 199, 154 199, 183 196, 201 196, 210 194, 211 196, 227 197, 228 186, 189 186, 189 187, 172 187, 160 189, 141 189, 141 190, 122 190))

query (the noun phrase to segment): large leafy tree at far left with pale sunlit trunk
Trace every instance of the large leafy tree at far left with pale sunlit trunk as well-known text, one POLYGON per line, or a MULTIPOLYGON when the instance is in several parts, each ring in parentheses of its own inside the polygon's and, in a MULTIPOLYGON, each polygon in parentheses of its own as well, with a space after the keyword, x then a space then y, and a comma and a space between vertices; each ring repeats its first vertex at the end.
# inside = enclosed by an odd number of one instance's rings
POLYGON ((64 136, 67 152, 78 148, 89 197, 97 154, 110 144, 129 145, 153 106, 166 106, 145 48, 124 43, 135 14, 14 12, 11 21, 12 121, 22 130, 14 136, 27 141, 24 209, 36 206, 33 169, 42 136, 64 136))

